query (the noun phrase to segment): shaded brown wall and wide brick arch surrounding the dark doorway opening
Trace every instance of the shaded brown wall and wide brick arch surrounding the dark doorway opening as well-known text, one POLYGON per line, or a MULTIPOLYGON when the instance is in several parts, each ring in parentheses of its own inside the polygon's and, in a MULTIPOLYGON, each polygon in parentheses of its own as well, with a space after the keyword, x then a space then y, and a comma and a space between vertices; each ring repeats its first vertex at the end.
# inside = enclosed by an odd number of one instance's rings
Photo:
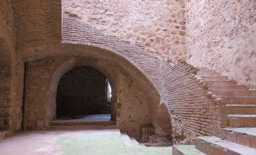
MULTIPOLYGON (((98 47, 74 44, 30 48, 19 52, 19 54, 24 56, 24 60, 31 62, 30 96, 34 97, 28 99, 29 108, 44 109, 40 116, 38 115, 39 120, 36 122, 32 119, 28 120, 28 127, 47 126, 49 121, 53 120, 56 109, 57 84, 64 73, 77 66, 91 66, 109 79, 114 91, 112 118, 116 120, 118 126, 123 127, 123 131, 132 133, 132 130, 136 130, 134 137, 139 138, 140 126, 148 125, 153 120, 152 116, 159 104, 159 92, 153 86, 150 76, 147 77, 147 73, 143 74, 144 70, 135 66, 138 64, 134 62, 132 64, 130 58, 127 60, 98 47), (44 84, 40 86, 40 82, 44 84), (38 88, 41 89, 41 92, 37 91, 38 88), (42 94, 44 95, 42 96, 42 94), (39 98, 43 99, 43 104, 35 105, 34 103, 38 102, 39 98), (40 106, 42 107, 40 108, 40 106), (127 112, 125 112, 126 110, 127 112), (128 119, 122 121, 125 117, 128 119), (134 125, 134 122, 137 122, 137 126, 134 125)), ((37 112, 31 112, 29 116, 37 114, 37 112)))

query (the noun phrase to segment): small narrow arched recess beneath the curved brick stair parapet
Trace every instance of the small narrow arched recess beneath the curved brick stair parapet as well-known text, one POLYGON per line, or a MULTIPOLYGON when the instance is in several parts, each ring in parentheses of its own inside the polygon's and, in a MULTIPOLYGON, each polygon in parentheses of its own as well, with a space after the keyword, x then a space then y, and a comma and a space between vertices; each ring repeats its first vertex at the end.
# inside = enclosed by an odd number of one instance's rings
MULTIPOLYGON (((156 116, 155 134, 157 138, 165 138, 172 142, 172 123, 168 104, 161 100, 156 116)), ((164 141, 164 139, 162 140, 164 141)))

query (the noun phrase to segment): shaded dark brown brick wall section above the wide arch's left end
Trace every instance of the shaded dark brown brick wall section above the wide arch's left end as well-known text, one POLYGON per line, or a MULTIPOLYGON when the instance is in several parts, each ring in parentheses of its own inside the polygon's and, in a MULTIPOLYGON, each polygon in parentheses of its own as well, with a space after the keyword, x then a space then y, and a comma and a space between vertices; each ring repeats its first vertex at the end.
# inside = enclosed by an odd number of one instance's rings
POLYGON ((61 41, 62 0, 11 0, 16 48, 61 41))

